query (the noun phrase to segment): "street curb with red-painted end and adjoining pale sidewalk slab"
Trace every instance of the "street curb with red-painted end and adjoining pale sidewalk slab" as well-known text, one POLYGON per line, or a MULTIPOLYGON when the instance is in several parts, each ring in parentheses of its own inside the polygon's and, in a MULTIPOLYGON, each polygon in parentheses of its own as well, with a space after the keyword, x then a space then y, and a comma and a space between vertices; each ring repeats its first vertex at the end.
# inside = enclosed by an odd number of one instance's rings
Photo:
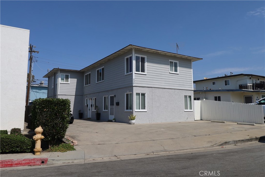
POLYGON ((178 150, 162 150, 162 151, 152 151, 150 153, 145 154, 128 154, 124 156, 109 156, 109 157, 98 157, 98 158, 91 158, 85 159, 85 151, 84 150, 75 150, 75 151, 68 151, 65 153, 61 152, 54 152, 48 158, 21 158, 21 159, 7 159, 0 161, 0 167, 19 167, 19 166, 40 166, 40 165, 55 165, 55 164, 63 164, 63 163, 89 163, 89 162, 98 162, 98 161, 112 161, 114 159, 134 159, 134 158, 144 158, 144 157, 154 157, 154 156, 161 156, 160 153, 170 153, 170 152, 180 152, 184 150, 196 150, 196 149, 204 149, 204 148, 214 148, 219 146, 233 146, 237 144, 243 143, 250 143, 250 142, 257 142, 257 141, 264 141, 265 136, 261 137, 253 137, 244 140, 231 140, 231 141, 223 141, 217 143, 212 146, 205 146, 201 148, 191 148, 191 149, 178 149, 178 150))

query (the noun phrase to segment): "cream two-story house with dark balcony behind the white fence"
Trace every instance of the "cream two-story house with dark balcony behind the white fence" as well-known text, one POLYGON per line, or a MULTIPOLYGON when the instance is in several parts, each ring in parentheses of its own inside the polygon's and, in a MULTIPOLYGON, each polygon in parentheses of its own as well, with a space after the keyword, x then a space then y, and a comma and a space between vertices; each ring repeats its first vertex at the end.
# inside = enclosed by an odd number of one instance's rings
POLYGON ((265 76, 254 74, 226 75, 193 81, 194 100, 253 103, 265 97, 265 76))

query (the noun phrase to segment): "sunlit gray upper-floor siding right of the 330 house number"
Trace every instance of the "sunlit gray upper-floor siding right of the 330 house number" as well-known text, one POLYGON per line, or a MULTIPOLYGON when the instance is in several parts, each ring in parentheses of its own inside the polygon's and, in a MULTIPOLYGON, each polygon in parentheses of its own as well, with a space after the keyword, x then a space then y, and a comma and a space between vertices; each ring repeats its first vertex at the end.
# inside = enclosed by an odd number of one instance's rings
POLYGON ((192 90, 192 62, 188 59, 135 50, 147 56, 147 74, 135 73, 135 86, 192 90), (169 60, 179 62, 179 74, 169 72, 169 60))

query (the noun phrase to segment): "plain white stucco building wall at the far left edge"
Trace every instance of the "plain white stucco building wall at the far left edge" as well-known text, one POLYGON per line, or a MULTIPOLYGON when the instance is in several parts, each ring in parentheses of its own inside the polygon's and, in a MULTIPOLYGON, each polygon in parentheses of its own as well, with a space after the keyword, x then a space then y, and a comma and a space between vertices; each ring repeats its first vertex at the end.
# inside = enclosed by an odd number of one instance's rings
POLYGON ((24 131, 29 30, 1 27, 1 130, 24 131))

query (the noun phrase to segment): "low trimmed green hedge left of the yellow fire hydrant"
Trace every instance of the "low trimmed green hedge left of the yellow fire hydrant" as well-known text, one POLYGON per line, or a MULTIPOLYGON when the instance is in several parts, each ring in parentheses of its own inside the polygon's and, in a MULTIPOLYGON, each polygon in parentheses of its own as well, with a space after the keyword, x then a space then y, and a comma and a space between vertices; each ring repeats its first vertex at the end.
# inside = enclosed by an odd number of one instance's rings
POLYGON ((35 146, 35 141, 29 139, 25 136, 17 135, 6 135, 1 134, 1 154, 10 154, 10 153, 28 153, 32 152, 35 146))

